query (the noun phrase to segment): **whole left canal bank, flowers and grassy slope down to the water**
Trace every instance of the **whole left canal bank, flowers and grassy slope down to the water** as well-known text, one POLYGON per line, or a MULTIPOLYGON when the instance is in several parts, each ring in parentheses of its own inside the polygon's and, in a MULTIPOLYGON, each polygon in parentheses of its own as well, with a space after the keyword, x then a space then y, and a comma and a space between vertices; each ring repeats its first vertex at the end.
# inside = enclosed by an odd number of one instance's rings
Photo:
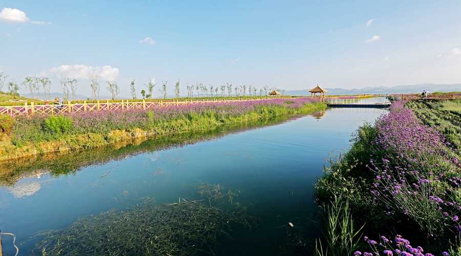
MULTIPOLYGON (((155 111, 18 117, 0 136, 0 161, 52 152, 88 150, 120 142, 212 131, 308 114, 326 105, 315 99, 268 99, 212 105, 170 106, 155 111)), ((122 143, 123 144, 123 143, 122 143)))

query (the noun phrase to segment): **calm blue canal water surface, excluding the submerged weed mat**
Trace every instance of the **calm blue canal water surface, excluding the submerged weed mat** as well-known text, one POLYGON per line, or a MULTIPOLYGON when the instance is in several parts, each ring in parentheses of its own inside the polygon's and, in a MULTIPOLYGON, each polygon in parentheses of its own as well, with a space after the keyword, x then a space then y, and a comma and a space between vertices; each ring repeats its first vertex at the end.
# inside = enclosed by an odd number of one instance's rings
MULTIPOLYGON (((216 254, 306 253, 319 236, 312 193, 325 160, 346 152, 358 126, 383 113, 328 109, 217 139, 119 157, 66 175, 49 174, 46 168, 26 172, 22 179, 1 183, 0 228, 16 234, 19 255, 30 255, 37 232, 67 228, 78 218, 132 207, 146 197, 156 204, 199 199, 194 186, 219 184, 232 189, 234 202, 258 221, 251 230, 231 233, 233 239, 223 240, 216 254)), ((3 247, 5 255, 14 255, 11 238, 3 237, 3 247)))

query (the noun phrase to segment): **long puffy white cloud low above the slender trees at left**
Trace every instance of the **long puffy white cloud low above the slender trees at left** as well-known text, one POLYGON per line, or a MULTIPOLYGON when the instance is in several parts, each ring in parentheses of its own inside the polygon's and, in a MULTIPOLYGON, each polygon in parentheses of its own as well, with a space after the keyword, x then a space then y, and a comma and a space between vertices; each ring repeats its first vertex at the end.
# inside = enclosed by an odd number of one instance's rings
POLYGON ((97 74, 106 80, 115 80, 119 70, 111 66, 91 67, 86 65, 61 65, 51 68, 43 75, 54 75, 57 78, 87 79, 90 74, 97 74))

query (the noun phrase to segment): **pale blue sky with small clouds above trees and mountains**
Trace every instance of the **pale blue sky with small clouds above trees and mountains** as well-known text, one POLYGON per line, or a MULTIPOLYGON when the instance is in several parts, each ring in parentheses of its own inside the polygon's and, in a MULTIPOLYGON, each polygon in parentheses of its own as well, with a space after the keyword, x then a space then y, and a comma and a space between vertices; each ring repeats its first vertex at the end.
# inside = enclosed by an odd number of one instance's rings
POLYGON ((73 76, 89 95, 89 72, 101 95, 115 79, 125 96, 131 79, 140 90, 149 78, 170 93, 178 79, 183 92, 461 82, 460 1, 0 0, 0 10, 0 71, 18 83, 49 76, 52 91, 73 76))

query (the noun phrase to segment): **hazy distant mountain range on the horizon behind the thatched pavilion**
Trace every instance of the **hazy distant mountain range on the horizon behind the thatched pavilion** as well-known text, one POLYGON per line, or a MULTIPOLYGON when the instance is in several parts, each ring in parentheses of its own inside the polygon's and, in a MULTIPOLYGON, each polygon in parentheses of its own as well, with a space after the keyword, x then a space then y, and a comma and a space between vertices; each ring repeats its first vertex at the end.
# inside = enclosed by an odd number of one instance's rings
MULTIPOLYGON (((312 87, 313 88, 313 87, 312 87)), ((287 90, 287 95, 310 95, 309 89, 306 90, 287 90)), ((365 87, 362 89, 342 89, 342 88, 324 88, 330 95, 347 95, 347 94, 391 94, 391 93, 421 93, 426 90, 428 92, 459 92, 461 91, 461 83, 456 84, 434 84, 422 83, 412 84, 409 86, 393 86, 393 87, 365 87)))

